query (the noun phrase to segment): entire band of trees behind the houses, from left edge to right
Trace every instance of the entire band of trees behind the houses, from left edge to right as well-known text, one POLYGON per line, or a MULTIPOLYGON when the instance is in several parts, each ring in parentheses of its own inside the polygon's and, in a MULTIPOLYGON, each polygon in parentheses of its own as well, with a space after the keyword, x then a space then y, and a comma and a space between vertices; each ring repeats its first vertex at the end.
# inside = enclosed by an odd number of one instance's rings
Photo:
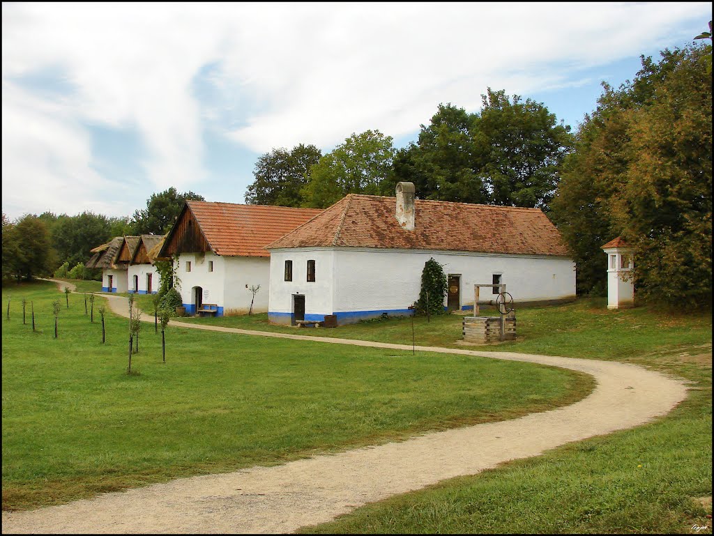
MULTIPOLYGON (((575 133, 543 103, 489 88, 476 113, 439 104, 404 148, 378 130, 325 154, 274 148, 258 158, 245 201, 326 208, 348 193, 393 196, 409 181, 422 199, 538 207, 570 249, 578 294, 605 292, 601 246, 621 236, 635 248, 640 298, 710 305, 711 56, 705 42, 642 56, 632 81, 603 83, 575 133)), ((166 233, 186 199, 203 200, 169 188, 131 218, 3 215, 3 278, 84 263, 112 236, 166 233)))

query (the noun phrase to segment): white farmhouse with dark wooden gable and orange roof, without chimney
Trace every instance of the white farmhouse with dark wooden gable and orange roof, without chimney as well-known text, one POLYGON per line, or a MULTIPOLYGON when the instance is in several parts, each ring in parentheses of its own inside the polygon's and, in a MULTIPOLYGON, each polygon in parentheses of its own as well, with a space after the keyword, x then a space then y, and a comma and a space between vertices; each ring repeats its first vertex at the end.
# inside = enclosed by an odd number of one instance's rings
POLYGON ((265 246, 321 213, 313 208, 186 201, 157 258, 174 258, 186 313, 268 310, 270 253, 265 246))

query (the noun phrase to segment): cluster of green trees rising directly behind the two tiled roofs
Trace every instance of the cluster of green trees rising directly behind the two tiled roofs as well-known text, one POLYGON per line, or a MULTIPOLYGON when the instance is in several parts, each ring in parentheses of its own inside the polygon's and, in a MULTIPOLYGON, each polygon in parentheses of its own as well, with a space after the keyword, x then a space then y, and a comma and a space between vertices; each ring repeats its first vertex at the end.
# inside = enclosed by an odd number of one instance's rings
POLYGON ((348 193, 387 195, 413 182, 424 199, 547 207, 573 146, 570 126, 543 103, 490 88, 467 113, 438 105, 418 141, 396 149, 378 130, 353 133, 333 151, 313 145, 258 158, 246 203, 326 208, 348 193))

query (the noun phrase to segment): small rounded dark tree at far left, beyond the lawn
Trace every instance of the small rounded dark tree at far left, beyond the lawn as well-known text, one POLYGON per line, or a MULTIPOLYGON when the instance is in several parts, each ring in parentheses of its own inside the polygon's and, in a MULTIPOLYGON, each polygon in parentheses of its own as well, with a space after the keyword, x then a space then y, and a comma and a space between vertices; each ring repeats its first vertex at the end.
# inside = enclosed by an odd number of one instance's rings
POLYGON ((21 251, 16 263, 17 275, 31 279, 51 273, 51 238, 44 222, 27 214, 17 221, 15 233, 21 251))

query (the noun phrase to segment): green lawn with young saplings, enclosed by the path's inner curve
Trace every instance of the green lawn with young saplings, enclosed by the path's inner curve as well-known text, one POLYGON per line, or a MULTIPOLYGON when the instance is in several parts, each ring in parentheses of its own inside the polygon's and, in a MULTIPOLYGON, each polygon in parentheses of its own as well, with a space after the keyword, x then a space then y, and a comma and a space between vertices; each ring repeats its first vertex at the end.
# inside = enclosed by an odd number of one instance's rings
POLYGON ((144 324, 138 374, 127 375, 128 320, 107 313, 101 344, 102 298, 94 323, 84 295, 71 293, 67 308, 54 283, 12 285, 2 298, 6 510, 515 418, 593 387, 589 376, 527 363, 171 324, 166 363, 161 334, 144 324))

